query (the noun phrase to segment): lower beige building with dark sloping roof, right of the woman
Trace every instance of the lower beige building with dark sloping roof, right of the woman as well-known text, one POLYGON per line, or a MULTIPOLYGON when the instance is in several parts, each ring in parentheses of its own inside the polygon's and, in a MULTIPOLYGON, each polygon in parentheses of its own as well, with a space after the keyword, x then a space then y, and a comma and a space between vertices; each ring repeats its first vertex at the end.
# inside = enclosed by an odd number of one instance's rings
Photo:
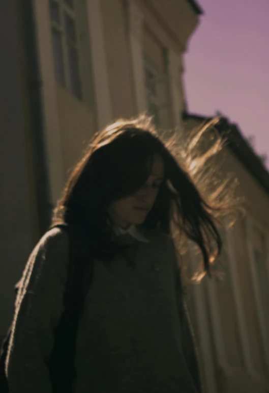
MULTIPOLYGON (((208 119, 184 115, 185 132, 208 119)), ((269 388, 269 173, 236 124, 222 118, 226 140, 218 154, 219 178, 238 180, 236 197, 245 214, 222 233, 217 261, 223 280, 205 278, 189 286, 189 306, 208 392, 264 392, 269 388)), ((191 251, 189 263, 195 265, 191 251)))

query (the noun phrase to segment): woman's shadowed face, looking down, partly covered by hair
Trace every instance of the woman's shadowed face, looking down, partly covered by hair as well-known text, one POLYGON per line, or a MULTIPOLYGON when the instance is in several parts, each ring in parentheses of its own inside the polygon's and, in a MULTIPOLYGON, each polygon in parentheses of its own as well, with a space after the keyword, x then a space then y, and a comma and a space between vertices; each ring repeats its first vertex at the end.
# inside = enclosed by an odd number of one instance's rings
POLYGON ((152 172, 144 186, 134 195, 118 199, 109 206, 108 214, 114 224, 124 229, 132 224, 142 224, 153 208, 163 180, 163 160, 155 154, 152 172))

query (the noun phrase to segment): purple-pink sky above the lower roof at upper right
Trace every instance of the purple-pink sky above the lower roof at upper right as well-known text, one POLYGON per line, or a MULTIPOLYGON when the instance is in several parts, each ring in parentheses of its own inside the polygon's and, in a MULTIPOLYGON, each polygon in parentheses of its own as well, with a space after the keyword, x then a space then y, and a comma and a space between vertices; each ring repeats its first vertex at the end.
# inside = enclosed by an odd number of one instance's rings
POLYGON ((185 56, 191 113, 220 111, 255 137, 269 167, 269 0, 198 0, 204 11, 185 56))

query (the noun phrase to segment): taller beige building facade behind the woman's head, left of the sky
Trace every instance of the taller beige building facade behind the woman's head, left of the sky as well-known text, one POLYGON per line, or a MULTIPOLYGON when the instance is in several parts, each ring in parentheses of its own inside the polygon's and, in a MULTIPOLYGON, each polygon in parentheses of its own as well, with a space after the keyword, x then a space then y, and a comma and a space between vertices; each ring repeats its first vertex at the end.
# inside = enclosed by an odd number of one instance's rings
POLYGON ((10 0, 2 8, 0 335, 14 284, 93 134, 145 110, 159 127, 182 126, 182 57, 201 12, 187 0, 10 0))

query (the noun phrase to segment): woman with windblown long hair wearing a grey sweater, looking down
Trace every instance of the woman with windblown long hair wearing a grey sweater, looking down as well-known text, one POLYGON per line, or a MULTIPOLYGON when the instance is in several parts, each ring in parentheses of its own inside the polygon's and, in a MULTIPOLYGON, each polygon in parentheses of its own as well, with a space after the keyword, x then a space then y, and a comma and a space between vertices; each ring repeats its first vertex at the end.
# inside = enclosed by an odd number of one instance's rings
POLYGON ((181 239, 196 243, 202 274, 210 273, 221 250, 215 217, 226 206, 216 195, 215 204, 206 203, 194 184, 190 169, 197 175, 220 147, 217 141, 200 161, 196 156, 195 166, 190 152, 203 132, 181 150, 181 166, 145 116, 119 120, 94 137, 24 271, 6 368, 11 393, 52 391, 47 363, 69 257, 67 233, 53 228, 61 223, 83 228, 94 258, 74 391, 202 391, 172 233, 177 228, 181 239))

